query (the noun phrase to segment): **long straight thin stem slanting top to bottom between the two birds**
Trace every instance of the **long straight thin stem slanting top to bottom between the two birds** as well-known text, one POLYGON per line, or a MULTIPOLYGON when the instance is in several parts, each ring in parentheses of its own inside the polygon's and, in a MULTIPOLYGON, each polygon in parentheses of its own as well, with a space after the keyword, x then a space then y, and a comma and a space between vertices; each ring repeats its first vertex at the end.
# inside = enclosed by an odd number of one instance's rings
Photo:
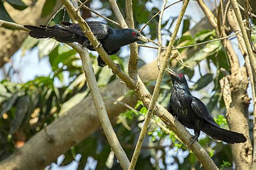
POLYGON ((179 13, 179 17, 178 17, 178 19, 177 19, 176 26, 175 26, 175 28, 174 28, 174 31, 173 31, 171 40, 170 40, 170 42, 169 42, 167 51, 166 51, 166 53, 165 53, 165 57, 164 57, 164 61, 163 61, 163 66, 161 66, 160 71, 159 71, 159 73, 158 73, 156 87, 154 88, 154 91, 153 91, 153 96, 152 96, 152 99, 151 99, 151 101, 150 101, 150 106, 149 106, 149 109, 147 110, 146 119, 145 119, 145 121, 144 121, 144 125, 143 125, 143 128, 142 128, 142 131, 141 131, 140 134, 139 134, 138 143, 137 143, 136 148, 135 148, 135 151, 134 151, 134 153, 133 153, 133 156, 132 156, 132 160, 131 160, 131 164, 130 164, 129 169, 134 169, 134 167, 135 167, 135 165, 136 165, 136 162, 137 162, 137 159, 138 159, 138 157, 139 157, 140 148, 142 147, 142 143, 143 143, 144 137, 145 137, 146 132, 147 132, 147 126, 148 126, 149 123, 150 123, 150 119, 151 119, 152 114, 153 114, 154 106, 156 105, 156 101, 157 101, 157 98, 158 98, 158 95, 159 95, 160 84, 161 84, 161 81, 163 80, 165 68, 167 67, 167 63, 168 63, 168 61, 169 61, 169 59, 170 59, 171 51, 172 51, 172 48, 173 48, 173 44, 174 44, 174 41, 175 41, 175 39, 176 39, 176 36, 177 36, 178 30, 179 30, 181 21, 182 21, 182 19, 183 19, 184 13, 185 13, 185 11, 186 11, 188 2, 189 2, 189 0, 185 0, 185 1, 183 2, 182 8, 181 8, 181 10, 180 10, 180 13, 179 13))

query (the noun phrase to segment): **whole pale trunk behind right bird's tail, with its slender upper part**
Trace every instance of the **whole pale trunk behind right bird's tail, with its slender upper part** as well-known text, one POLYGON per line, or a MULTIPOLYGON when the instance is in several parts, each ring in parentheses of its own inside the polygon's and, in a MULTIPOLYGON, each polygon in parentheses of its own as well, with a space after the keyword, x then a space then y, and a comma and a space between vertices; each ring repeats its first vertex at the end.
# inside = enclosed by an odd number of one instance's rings
MULTIPOLYGON (((198 0, 198 3, 206 13, 208 20, 216 30, 218 36, 226 36, 225 32, 220 32, 220 23, 214 22, 214 15, 204 2, 198 0)), ((226 116, 228 125, 232 131, 241 132, 245 134, 247 138, 245 143, 232 145, 234 162, 237 169, 251 169, 252 145, 247 122, 248 103, 250 102, 250 98, 247 94, 247 74, 244 67, 240 68, 237 54, 235 54, 231 42, 225 39, 222 41, 222 44, 226 48, 228 59, 231 63, 231 75, 226 76, 220 81, 224 102, 227 108, 226 116)))

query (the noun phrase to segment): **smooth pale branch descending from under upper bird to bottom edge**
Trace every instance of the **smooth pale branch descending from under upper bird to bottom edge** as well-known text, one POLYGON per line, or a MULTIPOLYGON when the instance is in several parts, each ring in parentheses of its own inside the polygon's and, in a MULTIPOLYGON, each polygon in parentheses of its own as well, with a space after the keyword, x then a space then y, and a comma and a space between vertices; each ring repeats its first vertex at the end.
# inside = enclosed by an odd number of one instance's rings
POLYGON ((122 146, 120 145, 118 138, 116 136, 116 133, 114 133, 113 127, 110 123, 110 119, 107 116, 106 108, 105 108, 102 96, 100 95, 96 77, 92 69, 90 55, 86 48, 82 49, 80 48, 80 46, 75 44, 71 46, 74 49, 76 49, 77 52, 80 54, 86 80, 91 91, 92 100, 95 104, 99 121, 100 121, 100 124, 102 125, 107 141, 109 141, 110 147, 114 152, 114 154, 116 155, 122 168, 127 169, 130 166, 130 161, 127 158, 127 155, 125 154, 122 146))

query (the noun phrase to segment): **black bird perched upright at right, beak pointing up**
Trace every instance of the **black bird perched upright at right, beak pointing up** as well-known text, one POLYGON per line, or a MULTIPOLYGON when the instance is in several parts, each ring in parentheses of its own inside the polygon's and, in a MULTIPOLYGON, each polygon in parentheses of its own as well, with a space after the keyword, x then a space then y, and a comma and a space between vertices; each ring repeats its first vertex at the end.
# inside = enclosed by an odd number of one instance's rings
POLYGON ((209 114, 206 106, 197 97, 190 94, 184 74, 167 69, 172 77, 173 89, 167 110, 181 124, 194 130, 190 145, 198 140, 200 131, 213 139, 225 141, 228 144, 244 143, 244 134, 220 128, 209 114))

